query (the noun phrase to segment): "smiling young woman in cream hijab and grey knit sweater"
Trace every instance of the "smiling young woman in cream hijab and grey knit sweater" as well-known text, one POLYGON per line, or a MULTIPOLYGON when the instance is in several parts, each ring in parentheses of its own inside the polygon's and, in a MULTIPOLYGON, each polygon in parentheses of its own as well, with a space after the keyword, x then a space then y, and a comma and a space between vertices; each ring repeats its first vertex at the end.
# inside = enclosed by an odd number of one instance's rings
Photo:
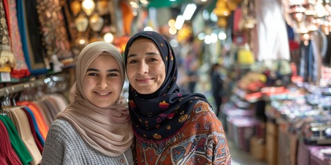
POLYGON ((133 164, 132 124, 121 99, 124 76, 114 45, 98 41, 83 48, 72 102, 50 126, 41 164, 133 164))

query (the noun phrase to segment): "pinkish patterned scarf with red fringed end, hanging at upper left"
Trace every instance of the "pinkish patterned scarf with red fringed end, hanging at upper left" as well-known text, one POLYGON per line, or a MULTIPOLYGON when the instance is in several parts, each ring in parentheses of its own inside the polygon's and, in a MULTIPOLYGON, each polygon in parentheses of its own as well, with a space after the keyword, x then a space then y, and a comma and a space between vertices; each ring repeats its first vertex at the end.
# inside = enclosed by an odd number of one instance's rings
POLYGON ((21 34, 19 34, 19 23, 17 22, 17 5, 16 1, 11 0, 3 0, 3 2, 9 2, 9 15, 10 15, 10 23, 9 23, 9 31, 10 31, 10 39, 12 43, 12 54, 14 55, 16 65, 12 68, 10 72, 10 76, 13 78, 23 78, 28 77, 30 75, 28 66, 26 65, 26 58, 23 54, 23 47, 21 41, 21 34))

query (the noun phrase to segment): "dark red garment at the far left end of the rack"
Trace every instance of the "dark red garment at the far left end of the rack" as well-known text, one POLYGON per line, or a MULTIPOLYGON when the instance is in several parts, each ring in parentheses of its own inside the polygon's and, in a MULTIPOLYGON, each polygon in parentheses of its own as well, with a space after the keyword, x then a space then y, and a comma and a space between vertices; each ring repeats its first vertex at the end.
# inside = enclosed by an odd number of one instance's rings
POLYGON ((10 145, 10 139, 5 124, 0 120, 0 157, 5 160, 1 164, 21 164, 19 157, 10 145))

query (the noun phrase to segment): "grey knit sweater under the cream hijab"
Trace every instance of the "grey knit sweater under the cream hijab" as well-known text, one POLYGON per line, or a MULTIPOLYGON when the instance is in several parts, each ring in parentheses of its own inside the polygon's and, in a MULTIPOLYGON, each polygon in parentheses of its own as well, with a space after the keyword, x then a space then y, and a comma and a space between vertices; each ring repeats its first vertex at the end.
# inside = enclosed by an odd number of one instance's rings
POLYGON ((133 164, 131 148, 122 155, 109 157, 81 138, 66 120, 55 120, 46 137, 41 164, 133 164))

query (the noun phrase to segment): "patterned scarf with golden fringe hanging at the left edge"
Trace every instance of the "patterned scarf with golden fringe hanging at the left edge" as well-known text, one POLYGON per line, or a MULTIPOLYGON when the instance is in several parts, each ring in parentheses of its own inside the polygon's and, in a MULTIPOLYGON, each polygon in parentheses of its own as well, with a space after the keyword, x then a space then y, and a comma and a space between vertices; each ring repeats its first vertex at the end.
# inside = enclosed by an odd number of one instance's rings
POLYGON ((6 19, 3 1, 0 1, 0 20, 0 67, 3 67, 6 63, 9 63, 10 67, 14 67, 15 59, 12 54, 12 47, 10 47, 10 34, 7 25, 8 20, 6 19))

